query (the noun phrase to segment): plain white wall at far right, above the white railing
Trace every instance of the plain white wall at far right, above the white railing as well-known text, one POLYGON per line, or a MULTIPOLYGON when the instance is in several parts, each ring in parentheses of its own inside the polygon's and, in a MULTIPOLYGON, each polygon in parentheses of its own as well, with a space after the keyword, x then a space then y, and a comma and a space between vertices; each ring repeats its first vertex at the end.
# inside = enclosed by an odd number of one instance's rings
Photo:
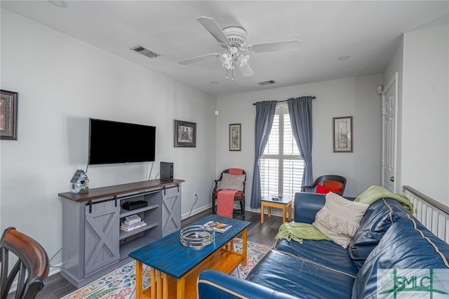
POLYGON ((449 25, 403 34, 384 70, 398 72, 398 187, 449 206, 449 25))

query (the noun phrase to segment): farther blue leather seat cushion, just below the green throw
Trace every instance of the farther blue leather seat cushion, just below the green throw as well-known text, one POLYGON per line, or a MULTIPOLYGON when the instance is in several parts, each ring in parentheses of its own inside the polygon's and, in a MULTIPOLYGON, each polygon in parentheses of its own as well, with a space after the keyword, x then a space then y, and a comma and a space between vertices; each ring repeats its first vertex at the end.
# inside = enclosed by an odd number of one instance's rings
POLYGON ((356 276, 358 272, 358 268, 349 258, 347 249, 333 241, 304 239, 300 244, 297 241, 283 239, 276 241, 274 248, 349 275, 356 276))

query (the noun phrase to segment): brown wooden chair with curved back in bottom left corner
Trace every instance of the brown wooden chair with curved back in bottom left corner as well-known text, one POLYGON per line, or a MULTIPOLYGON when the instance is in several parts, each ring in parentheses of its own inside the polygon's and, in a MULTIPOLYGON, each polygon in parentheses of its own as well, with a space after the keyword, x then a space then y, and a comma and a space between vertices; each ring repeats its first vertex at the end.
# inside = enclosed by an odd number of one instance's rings
POLYGON ((13 281, 17 277, 16 299, 32 299, 43 288, 48 277, 48 256, 42 246, 26 234, 8 227, 1 237, 0 298, 6 299, 13 281), (9 253, 17 262, 8 267, 9 253))

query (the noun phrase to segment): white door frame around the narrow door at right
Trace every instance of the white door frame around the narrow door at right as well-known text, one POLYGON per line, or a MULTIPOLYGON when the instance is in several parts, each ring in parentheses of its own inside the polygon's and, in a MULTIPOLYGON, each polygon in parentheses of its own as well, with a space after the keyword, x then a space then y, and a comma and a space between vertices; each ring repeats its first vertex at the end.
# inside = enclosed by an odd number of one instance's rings
POLYGON ((397 172, 398 172, 398 77, 399 74, 398 72, 394 73, 394 76, 391 78, 391 80, 389 81, 389 83, 387 84, 387 86, 384 88, 384 90, 382 91, 382 187, 386 187, 384 186, 384 182, 385 182, 385 173, 384 173, 384 166, 385 166, 385 95, 387 94, 387 91, 389 91, 389 88, 391 88, 391 86, 395 87, 395 91, 394 91, 394 184, 393 184, 393 192, 397 193, 397 172))

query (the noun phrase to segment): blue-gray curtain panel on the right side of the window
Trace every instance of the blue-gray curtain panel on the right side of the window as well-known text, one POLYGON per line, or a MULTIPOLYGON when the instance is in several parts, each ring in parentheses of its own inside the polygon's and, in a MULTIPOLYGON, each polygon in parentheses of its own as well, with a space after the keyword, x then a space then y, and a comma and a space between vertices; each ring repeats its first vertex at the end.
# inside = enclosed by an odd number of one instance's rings
POLYGON ((305 164, 302 185, 311 185, 314 182, 311 166, 311 101, 310 96, 287 100, 293 136, 305 164))

